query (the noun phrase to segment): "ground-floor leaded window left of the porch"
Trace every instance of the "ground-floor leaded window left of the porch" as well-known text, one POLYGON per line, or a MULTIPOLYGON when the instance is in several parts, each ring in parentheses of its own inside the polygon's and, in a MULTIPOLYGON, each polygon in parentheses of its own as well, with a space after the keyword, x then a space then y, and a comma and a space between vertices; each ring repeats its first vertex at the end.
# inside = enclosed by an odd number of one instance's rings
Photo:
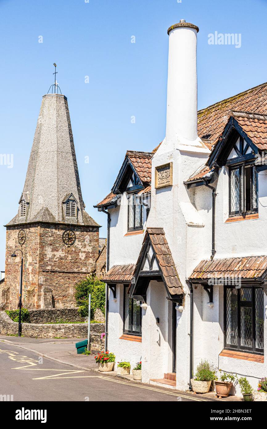
POLYGON ((130 298, 127 293, 128 287, 128 285, 124 285, 123 332, 141 335, 141 302, 130 298))

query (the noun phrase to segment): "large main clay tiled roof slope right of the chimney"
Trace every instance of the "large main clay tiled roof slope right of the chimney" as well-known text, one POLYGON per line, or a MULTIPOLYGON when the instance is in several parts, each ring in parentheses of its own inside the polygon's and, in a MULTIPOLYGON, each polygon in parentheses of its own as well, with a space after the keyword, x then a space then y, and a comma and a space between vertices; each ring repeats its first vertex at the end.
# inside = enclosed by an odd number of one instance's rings
POLYGON ((267 114, 267 83, 248 89, 198 111, 198 136, 214 144, 231 116, 231 110, 267 114))

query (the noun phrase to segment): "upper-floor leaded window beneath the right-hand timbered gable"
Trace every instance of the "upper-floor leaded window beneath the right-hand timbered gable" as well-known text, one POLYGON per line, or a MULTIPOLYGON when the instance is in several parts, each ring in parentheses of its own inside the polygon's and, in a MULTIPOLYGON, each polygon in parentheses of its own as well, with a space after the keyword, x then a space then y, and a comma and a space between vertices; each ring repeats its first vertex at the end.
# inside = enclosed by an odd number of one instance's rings
POLYGON ((229 168, 229 215, 258 211, 258 173, 254 166, 229 168))

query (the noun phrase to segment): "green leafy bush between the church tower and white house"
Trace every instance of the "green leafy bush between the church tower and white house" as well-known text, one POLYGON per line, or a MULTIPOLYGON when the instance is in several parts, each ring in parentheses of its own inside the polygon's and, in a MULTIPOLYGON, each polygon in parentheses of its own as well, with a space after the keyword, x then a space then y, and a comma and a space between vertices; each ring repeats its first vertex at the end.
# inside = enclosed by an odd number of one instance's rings
POLYGON ((91 294, 91 320, 94 318, 96 308, 105 314, 105 283, 97 277, 90 275, 75 285, 75 299, 81 317, 88 316, 88 297, 91 294))

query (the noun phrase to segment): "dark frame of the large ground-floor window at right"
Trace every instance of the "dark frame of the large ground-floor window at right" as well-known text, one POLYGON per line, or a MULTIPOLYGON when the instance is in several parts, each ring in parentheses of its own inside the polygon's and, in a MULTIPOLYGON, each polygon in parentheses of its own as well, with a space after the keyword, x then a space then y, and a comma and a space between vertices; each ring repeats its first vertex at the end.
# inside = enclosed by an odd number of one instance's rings
POLYGON ((224 333, 224 348, 226 350, 236 350, 246 353, 256 353, 263 355, 264 348, 256 347, 256 307, 255 307, 255 290, 261 289, 260 286, 249 286, 252 289, 252 300, 251 301, 242 301, 240 299, 241 289, 246 289, 246 287, 241 287, 237 289, 237 345, 227 343, 227 289, 234 289, 232 286, 225 286, 223 291, 223 333, 224 333), (242 346, 241 345, 241 307, 252 308, 252 347, 242 346))

